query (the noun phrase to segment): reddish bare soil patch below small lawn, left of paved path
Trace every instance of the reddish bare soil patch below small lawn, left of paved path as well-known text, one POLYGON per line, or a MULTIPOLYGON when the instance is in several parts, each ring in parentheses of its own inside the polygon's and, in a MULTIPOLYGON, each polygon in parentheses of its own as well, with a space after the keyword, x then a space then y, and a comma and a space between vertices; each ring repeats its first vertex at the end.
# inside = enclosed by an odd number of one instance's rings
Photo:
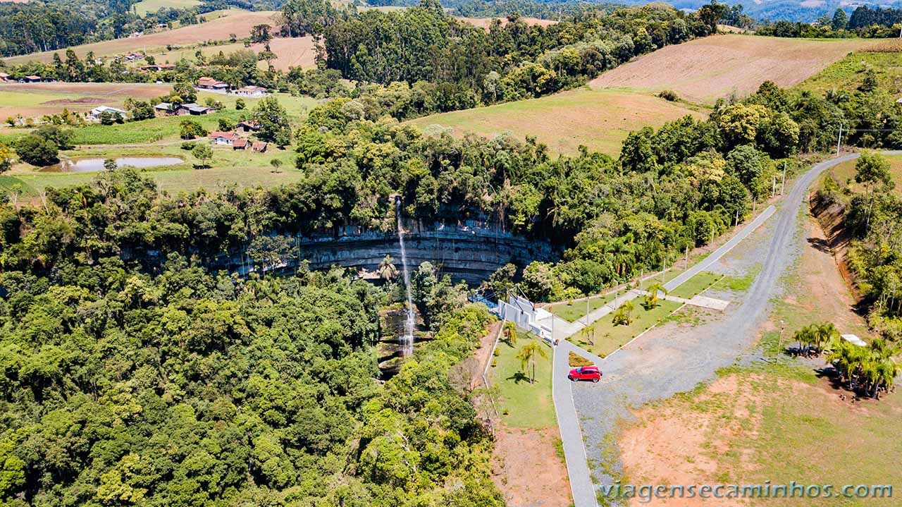
POLYGON ((564 459, 557 456, 557 428, 508 429, 495 434, 492 481, 508 507, 572 505, 564 459))

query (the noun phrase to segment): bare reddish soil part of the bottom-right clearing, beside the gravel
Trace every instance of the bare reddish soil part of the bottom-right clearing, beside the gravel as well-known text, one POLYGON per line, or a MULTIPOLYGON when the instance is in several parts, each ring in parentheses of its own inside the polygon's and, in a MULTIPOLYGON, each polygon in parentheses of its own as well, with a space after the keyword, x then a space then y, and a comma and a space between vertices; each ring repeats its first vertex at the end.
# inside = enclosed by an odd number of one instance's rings
MULTIPOLYGON (((728 375, 691 401, 676 398, 639 410, 639 422, 621 431, 619 438, 624 475, 630 484, 722 484, 725 473, 731 483, 748 479, 754 483, 764 470, 759 453, 768 452, 767 447, 752 446, 763 428, 761 413, 781 403, 787 392, 812 400, 835 417, 867 418, 871 410, 851 402, 851 397, 842 400, 826 380, 810 384, 754 374, 728 375), (778 389, 762 393, 756 388, 756 384, 772 382, 779 383, 778 389), (738 460, 724 458, 728 452, 739 456, 738 460)), ((631 499, 631 507, 640 505, 740 507, 749 503, 744 499, 631 499)))

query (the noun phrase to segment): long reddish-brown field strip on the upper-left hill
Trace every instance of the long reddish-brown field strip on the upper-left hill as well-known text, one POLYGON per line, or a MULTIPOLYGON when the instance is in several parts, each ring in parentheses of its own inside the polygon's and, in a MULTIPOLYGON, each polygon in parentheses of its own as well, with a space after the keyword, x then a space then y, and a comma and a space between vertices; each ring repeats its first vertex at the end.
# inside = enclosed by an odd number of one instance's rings
MULTIPOLYGON (((207 23, 194 24, 149 33, 136 38, 115 39, 113 41, 93 42, 72 48, 78 58, 85 58, 88 51, 94 51, 99 56, 112 56, 130 51, 152 52, 165 48, 167 45, 196 44, 204 41, 222 41, 228 39, 230 33, 235 33, 239 38, 247 37, 251 27, 260 23, 273 23, 274 11, 249 12, 243 10, 230 10, 222 17, 207 21, 207 23)), ((28 61, 49 62, 53 59, 55 51, 43 51, 6 59, 7 63, 21 64, 28 61)), ((64 51, 59 51, 64 52, 64 51)))

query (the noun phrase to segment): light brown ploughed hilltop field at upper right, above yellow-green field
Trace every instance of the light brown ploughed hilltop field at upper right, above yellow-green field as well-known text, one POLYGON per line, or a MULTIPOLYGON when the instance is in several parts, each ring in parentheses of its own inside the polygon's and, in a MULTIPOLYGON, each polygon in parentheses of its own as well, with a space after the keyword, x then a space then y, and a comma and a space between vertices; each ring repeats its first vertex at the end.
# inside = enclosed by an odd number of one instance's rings
POLYGON ((713 103, 731 93, 745 96, 771 80, 792 87, 850 51, 879 44, 860 39, 809 40, 724 34, 666 46, 604 72, 600 88, 670 89, 686 100, 713 103))

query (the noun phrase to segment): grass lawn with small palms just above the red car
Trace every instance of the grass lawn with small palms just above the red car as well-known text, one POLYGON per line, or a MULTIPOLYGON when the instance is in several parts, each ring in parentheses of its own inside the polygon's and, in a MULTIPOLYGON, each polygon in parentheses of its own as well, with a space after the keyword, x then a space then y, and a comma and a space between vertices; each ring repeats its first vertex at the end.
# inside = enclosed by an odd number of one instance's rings
POLYGON ((604 357, 611 354, 621 346, 624 346, 634 337, 650 327, 654 327, 660 320, 682 306, 675 301, 658 300, 658 306, 654 309, 646 310, 641 305, 642 298, 633 300, 635 309, 632 311, 632 323, 629 326, 614 326, 612 323, 612 314, 606 315, 594 321, 591 327, 588 327, 589 333, 594 329, 595 345, 592 346, 584 336, 584 332, 575 334, 567 338, 578 346, 582 346, 594 355, 604 357))

